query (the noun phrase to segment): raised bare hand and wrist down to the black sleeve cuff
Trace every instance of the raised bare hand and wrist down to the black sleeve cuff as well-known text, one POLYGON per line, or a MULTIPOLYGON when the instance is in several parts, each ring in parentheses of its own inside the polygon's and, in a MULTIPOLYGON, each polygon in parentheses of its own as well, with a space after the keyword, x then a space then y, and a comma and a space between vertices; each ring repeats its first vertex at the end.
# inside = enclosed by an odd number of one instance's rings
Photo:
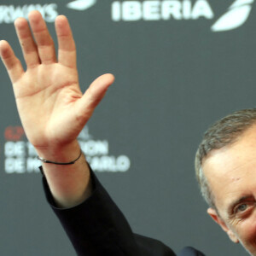
MULTIPOLYGON (((68 163, 78 158, 80 148, 76 138, 113 83, 113 75, 97 78, 83 95, 79 89, 76 49, 67 18, 58 16, 55 20, 58 58, 38 11, 30 13, 29 23, 31 29, 25 19, 15 20, 26 72, 8 42, 0 42, 0 54, 14 87, 28 140, 44 159, 68 163)), ((74 165, 44 163, 43 167, 59 207, 73 207, 90 196, 90 171, 83 155, 74 165)))

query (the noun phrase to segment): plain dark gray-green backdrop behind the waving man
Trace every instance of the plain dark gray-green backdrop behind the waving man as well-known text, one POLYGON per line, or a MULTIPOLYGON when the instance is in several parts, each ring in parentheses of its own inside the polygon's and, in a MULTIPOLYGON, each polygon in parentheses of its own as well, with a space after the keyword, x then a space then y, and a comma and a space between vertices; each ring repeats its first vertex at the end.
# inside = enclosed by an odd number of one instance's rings
MULTIPOLYGON (((214 13, 211 20, 127 22, 111 19, 113 1, 97 1, 84 11, 67 9, 68 2, 54 3, 73 28, 82 90, 102 73, 116 76, 88 126, 94 139, 108 140, 109 155, 125 154, 131 160, 127 172, 96 175, 132 229, 176 252, 190 245, 210 256, 246 255, 207 216, 195 181, 194 157, 209 125, 255 106, 254 4, 242 26, 212 32, 212 24, 234 1, 207 1, 214 13)), ((0 1, 0 6, 29 4, 34 1, 0 1)), ((48 25, 55 38, 53 23, 48 25)), ((22 59, 14 26, 0 26, 0 38, 8 40, 22 59)), ((20 120, 8 75, 0 65, 1 254, 75 255, 45 202, 40 174, 4 170, 4 133, 9 126, 20 126, 20 120)))

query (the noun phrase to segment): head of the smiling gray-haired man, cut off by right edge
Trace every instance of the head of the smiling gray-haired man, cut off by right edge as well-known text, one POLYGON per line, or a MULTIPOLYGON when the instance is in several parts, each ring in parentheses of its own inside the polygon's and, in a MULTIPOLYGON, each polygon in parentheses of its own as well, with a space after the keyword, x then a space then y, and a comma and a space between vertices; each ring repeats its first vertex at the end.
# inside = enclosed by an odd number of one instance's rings
POLYGON ((205 133, 195 157, 208 213, 256 255, 256 109, 232 113, 205 133))

